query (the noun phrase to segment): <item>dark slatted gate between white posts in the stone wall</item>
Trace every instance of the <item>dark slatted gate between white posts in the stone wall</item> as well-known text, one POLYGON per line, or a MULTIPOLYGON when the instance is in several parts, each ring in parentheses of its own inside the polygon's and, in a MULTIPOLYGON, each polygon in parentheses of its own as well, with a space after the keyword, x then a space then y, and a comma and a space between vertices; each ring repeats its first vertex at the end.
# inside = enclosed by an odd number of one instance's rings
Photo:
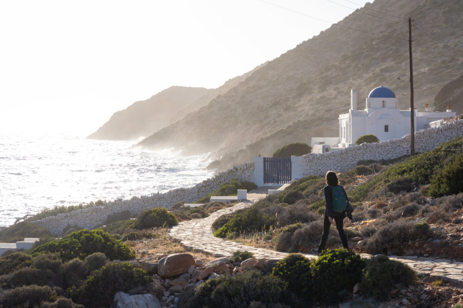
POLYGON ((291 158, 264 157, 264 184, 286 184, 291 181, 291 158))

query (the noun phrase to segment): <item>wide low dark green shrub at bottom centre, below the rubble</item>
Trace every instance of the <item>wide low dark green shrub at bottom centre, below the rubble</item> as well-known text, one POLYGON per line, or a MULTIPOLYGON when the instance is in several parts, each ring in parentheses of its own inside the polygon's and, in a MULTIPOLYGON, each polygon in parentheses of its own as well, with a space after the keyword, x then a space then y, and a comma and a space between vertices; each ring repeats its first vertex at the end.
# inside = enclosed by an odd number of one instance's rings
POLYGON ((263 305, 283 303, 287 283, 276 276, 249 271, 235 276, 210 279, 182 294, 179 308, 215 307, 242 308, 252 302, 263 305))

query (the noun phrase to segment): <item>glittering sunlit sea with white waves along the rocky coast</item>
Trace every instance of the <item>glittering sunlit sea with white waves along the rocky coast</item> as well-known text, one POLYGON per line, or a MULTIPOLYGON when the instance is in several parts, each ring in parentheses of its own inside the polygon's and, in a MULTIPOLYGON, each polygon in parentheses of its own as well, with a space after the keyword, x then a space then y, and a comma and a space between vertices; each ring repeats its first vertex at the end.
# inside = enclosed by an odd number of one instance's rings
POLYGON ((190 187, 213 176, 207 154, 149 152, 133 142, 0 135, 0 226, 61 205, 190 187))

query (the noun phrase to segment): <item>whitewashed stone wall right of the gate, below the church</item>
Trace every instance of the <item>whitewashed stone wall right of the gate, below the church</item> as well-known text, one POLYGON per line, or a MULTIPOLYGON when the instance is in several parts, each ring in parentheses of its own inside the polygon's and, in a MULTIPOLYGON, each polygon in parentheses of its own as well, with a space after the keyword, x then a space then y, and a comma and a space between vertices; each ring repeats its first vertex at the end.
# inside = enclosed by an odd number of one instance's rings
MULTIPOLYGON (((415 132, 415 152, 422 153, 436 148, 442 142, 463 136, 463 120, 456 120, 441 127, 415 132)), ((410 153, 411 135, 379 143, 363 143, 340 151, 310 153, 292 157, 293 178, 325 175, 327 171, 346 171, 361 160, 393 159, 410 153)))

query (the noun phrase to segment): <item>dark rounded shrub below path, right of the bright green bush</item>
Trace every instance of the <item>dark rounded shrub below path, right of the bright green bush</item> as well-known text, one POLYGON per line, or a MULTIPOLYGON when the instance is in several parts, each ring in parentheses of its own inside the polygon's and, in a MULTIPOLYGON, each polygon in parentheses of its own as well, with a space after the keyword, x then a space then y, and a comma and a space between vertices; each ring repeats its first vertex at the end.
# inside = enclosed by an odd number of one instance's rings
POLYGON ((363 294, 387 300, 389 292, 396 284, 407 287, 414 284, 417 275, 412 268, 399 261, 389 260, 387 256, 378 255, 366 261, 362 273, 361 290, 363 294))

